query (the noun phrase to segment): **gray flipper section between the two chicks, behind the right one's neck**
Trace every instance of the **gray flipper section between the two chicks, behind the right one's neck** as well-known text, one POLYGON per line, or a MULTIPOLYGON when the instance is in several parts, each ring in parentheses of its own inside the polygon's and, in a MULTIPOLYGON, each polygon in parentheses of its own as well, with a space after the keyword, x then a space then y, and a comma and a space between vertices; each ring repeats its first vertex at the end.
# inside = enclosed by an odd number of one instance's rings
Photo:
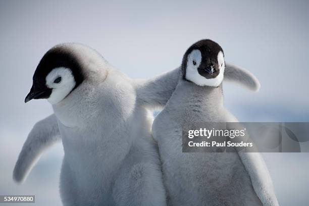
POLYGON ((181 68, 178 67, 147 80, 136 80, 139 102, 150 108, 163 107, 174 92, 180 77, 181 68))

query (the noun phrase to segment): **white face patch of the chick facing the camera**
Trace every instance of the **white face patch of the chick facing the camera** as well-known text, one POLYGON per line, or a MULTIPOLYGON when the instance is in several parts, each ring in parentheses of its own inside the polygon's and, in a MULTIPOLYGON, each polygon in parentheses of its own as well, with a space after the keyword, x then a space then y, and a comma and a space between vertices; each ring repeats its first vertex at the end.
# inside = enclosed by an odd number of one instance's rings
POLYGON ((212 79, 207 79, 198 73, 197 68, 201 63, 201 58, 202 58, 201 53, 200 50, 198 49, 192 50, 192 52, 188 55, 186 79, 199 86, 215 86, 215 87, 219 86, 223 80, 223 74, 225 68, 223 53, 220 51, 217 57, 220 72, 216 78, 212 79))

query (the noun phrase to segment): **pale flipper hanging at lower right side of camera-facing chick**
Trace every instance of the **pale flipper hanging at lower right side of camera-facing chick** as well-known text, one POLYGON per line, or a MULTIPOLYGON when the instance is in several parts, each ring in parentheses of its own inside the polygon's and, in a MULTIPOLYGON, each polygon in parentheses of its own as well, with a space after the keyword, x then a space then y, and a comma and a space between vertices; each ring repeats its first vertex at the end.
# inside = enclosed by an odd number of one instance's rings
POLYGON ((248 172, 253 189, 264 206, 278 206, 274 186, 259 152, 238 152, 245 170, 248 172))

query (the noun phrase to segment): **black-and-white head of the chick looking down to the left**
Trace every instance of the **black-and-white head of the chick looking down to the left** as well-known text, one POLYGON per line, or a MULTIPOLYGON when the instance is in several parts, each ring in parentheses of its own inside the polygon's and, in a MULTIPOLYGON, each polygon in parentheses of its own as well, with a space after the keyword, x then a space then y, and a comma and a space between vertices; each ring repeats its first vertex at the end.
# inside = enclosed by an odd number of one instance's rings
POLYGON ((91 72, 85 65, 91 69, 97 61, 93 57, 104 60, 93 49, 81 44, 59 44, 51 48, 34 72, 25 102, 45 98, 50 104, 57 104, 89 76, 86 74, 91 72))

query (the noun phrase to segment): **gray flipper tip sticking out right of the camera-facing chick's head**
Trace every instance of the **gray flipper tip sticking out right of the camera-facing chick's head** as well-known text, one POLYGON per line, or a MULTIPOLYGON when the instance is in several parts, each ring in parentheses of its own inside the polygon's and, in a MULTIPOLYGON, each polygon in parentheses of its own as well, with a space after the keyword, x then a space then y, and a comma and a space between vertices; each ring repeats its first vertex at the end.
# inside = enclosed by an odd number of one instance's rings
POLYGON ((261 84, 251 72, 236 65, 226 63, 224 80, 235 82, 253 91, 259 91, 261 84))

